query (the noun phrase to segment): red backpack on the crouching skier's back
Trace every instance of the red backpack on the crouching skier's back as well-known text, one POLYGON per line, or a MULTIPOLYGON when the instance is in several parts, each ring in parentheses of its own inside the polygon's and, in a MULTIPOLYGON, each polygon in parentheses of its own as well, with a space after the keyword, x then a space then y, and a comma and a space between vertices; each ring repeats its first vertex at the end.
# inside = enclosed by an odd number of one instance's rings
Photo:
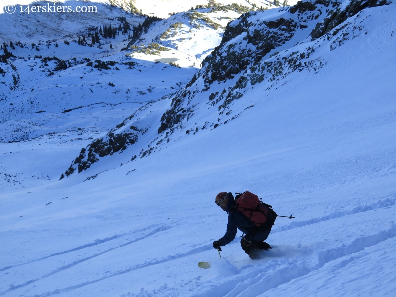
POLYGON ((257 195, 245 191, 236 198, 235 208, 247 216, 257 227, 269 228, 274 225, 277 216, 275 211, 272 210, 271 205, 260 201, 257 195))

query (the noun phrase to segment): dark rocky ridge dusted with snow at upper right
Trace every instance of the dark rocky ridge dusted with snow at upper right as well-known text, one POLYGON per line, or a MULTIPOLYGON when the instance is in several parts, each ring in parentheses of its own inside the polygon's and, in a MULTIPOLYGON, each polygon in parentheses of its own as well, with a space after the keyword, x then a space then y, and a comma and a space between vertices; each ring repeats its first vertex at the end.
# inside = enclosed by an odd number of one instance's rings
MULTIPOLYGON (((221 44, 206 57, 202 69, 186 87, 173 97, 171 107, 161 118, 158 133, 183 129, 197 112, 198 105, 216 107, 220 113, 217 122, 206 122, 192 130, 215 128, 236 118, 225 119, 231 113, 230 104, 242 98, 247 88, 263 83, 268 90, 286 83, 286 77, 292 72, 317 72, 323 67, 326 61, 312 56, 322 41, 308 41, 320 37, 326 37, 327 41, 337 39, 330 45, 334 49, 337 43, 341 45, 349 39, 347 35, 339 37, 340 30, 351 25, 346 20, 367 7, 390 3, 385 0, 300 1, 291 7, 245 13, 227 25, 221 44), (226 87, 219 86, 226 82, 226 87)), ((349 29, 356 30, 353 26, 349 29)), ((244 108, 249 107, 247 104, 244 108)))

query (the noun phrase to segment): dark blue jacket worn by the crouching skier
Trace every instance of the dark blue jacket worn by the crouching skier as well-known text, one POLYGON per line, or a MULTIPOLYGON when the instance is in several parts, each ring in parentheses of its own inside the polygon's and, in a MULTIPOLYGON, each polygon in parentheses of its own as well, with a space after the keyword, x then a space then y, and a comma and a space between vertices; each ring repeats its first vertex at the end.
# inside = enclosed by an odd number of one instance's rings
POLYGON ((254 232, 253 230, 257 230, 256 225, 252 221, 233 207, 235 205, 235 199, 231 192, 228 193, 228 195, 230 198, 228 199, 225 209, 228 213, 227 231, 226 234, 219 239, 222 246, 233 241, 235 235, 237 235, 237 229, 241 230, 245 234, 249 234, 254 232))

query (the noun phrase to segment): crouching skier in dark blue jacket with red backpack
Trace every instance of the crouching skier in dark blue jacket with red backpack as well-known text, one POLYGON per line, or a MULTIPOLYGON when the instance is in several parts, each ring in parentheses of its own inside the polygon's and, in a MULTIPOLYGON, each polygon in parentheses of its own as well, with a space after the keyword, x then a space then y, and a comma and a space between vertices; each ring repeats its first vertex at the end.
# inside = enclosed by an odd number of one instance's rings
POLYGON ((213 247, 221 251, 221 246, 230 243, 237 234, 237 229, 245 233, 241 239, 241 247, 251 259, 260 258, 260 251, 271 248, 264 242, 267 239, 276 219, 276 213, 268 204, 261 202, 258 196, 245 191, 237 193, 220 192, 215 202, 228 214, 227 231, 225 235, 213 242, 213 247))

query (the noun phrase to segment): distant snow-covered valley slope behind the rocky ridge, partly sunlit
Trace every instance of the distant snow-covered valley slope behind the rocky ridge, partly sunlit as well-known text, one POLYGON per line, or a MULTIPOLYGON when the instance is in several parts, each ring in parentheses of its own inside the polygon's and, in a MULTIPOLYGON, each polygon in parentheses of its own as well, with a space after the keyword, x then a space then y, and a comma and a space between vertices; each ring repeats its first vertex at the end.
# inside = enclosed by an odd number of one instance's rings
POLYGON ((60 24, 59 16, 53 14, 24 14, 22 19, 15 13, 0 14, 4 19, 2 44, 5 42, 7 51, 14 56, 8 63, 1 63, 0 141, 27 140, 77 127, 89 134, 99 131, 103 135, 137 108, 174 93, 220 42, 227 22, 247 7, 238 7, 238 12, 206 13, 210 10, 192 10, 156 20, 152 29, 144 28, 143 35, 137 38, 132 38, 134 28, 146 18, 110 5, 98 4, 101 13, 86 13, 80 18, 73 13, 61 15, 60 24), (216 20, 220 24, 201 20, 206 14, 220 15, 216 20), (31 27, 32 22, 38 25, 31 27), (29 29, 21 30, 21 23, 29 24, 29 29), (114 38, 99 33, 99 41, 92 43, 90 35, 104 26, 124 28, 126 24, 129 28, 125 32, 117 30, 114 38), (85 41, 79 44, 79 39, 85 41), (120 52, 134 42, 138 46, 133 53, 131 49, 120 52), (143 44, 144 49, 152 45, 164 47, 147 52, 141 50, 143 44), (183 68, 176 67, 179 65, 183 68), (97 111, 95 115, 92 109, 97 111), (92 116, 101 124, 82 120, 92 116))

